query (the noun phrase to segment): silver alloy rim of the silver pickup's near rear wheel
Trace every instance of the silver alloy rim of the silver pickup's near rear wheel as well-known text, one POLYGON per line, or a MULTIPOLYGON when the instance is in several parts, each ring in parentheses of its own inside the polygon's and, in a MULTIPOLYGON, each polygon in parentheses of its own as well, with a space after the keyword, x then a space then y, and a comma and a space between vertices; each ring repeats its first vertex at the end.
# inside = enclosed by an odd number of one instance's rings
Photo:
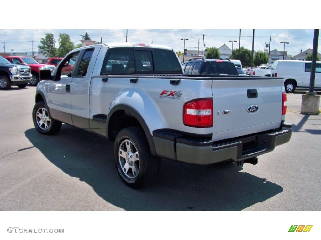
POLYGON ((139 154, 134 143, 128 139, 123 140, 118 151, 119 165, 128 178, 135 178, 139 173, 139 154))

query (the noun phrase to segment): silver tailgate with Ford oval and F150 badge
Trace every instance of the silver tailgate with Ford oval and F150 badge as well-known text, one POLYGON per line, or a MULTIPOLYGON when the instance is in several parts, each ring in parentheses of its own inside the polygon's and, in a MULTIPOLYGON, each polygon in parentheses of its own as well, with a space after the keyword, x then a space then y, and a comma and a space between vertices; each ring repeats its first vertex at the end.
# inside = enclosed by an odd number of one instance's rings
POLYGON ((277 129, 282 79, 213 80, 213 141, 277 129))

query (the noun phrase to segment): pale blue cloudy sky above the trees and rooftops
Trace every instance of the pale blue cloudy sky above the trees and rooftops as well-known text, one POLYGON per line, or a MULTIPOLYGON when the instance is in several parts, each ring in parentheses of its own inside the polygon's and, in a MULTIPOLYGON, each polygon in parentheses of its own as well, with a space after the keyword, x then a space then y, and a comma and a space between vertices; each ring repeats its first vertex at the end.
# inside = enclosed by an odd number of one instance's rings
MULTIPOLYGON (((230 49, 241 47, 252 50, 253 29, 241 29, 241 40, 239 40, 240 30, 210 30, 210 29, 186 29, 186 30, 167 30, 167 29, 3 29, 0 30, 0 41, 2 51, 5 46, 5 52, 31 52, 32 44, 34 51, 37 51, 37 46, 40 40, 46 33, 52 33, 55 36, 56 46, 58 46, 59 33, 67 33, 73 42, 80 43, 81 35, 88 33, 91 40, 102 43, 108 42, 125 42, 126 35, 128 42, 143 42, 155 43, 172 47, 175 51, 183 51, 184 41, 181 38, 188 39, 185 41, 185 48, 188 50, 202 51, 203 35, 204 44, 206 47, 220 47, 226 44, 230 49), (33 41, 33 42, 32 42, 33 41), (199 42, 199 43, 198 43, 199 42), (5 43, 5 44, 4 44, 5 43)), ((270 49, 278 49, 283 51, 284 44, 280 42, 289 42, 285 45, 285 50, 289 55, 296 55, 302 49, 312 49, 314 30, 254 30, 254 50, 263 50, 265 43, 269 43, 271 36, 270 49)), ((204 48, 204 49, 205 49, 204 48)), ((320 49, 320 46, 319 46, 320 49)), ((320 52, 320 51, 319 51, 320 52)))

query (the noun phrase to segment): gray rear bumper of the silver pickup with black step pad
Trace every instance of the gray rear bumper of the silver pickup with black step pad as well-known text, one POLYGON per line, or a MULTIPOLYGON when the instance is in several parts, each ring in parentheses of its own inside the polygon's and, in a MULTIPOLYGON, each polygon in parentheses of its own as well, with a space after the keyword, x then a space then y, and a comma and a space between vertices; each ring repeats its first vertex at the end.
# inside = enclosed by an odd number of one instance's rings
POLYGON ((153 141, 156 153, 189 164, 214 164, 224 161, 238 162, 273 151, 275 146, 290 141, 292 125, 283 123, 280 129, 253 135, 211 142, 170 130, 155 130, 153 141))

